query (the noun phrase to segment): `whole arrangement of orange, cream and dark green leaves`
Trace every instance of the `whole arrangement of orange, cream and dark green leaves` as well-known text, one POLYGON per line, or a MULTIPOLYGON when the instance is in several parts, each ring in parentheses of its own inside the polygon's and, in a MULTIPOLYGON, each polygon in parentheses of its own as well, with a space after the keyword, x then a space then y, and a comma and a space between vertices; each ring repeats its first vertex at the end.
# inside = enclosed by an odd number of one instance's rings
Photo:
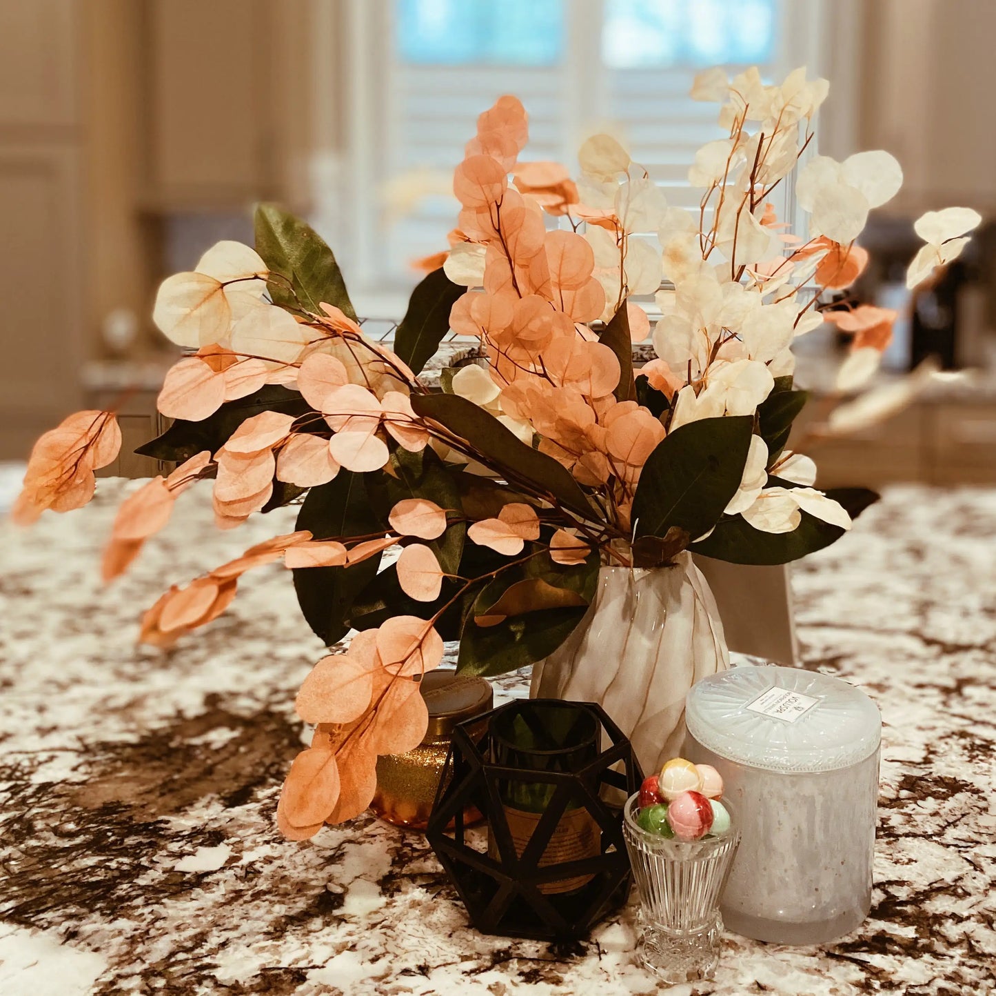
MULTIPOLYGON (((901 182, 891 156, 801 166, 806 240, 768 200, 795 175, 827 89, 804 70, 775 86, 756 69, 701 74, 692 96, 720 103, 728 137, 689 171, 697 216, 669 207, 609 136, 584 144, 577 181, 519 163, 527 115, 501 98, 456 167, 458 227, 392 348, 365 335, 331 249, 272 205, 257 209, 254 249, 220 242, 162 283, 154 321, 188 355, 158 398, 173 423, 137 452, 178 466, 125 498, 103 575, 120 575, 199 481, 213 481, 223 529, 300 504, 295 532, 173 585, 140 629, 170 647, 223 612, 244 573, 282 560, 326 645, 359 631, 298 695, 316 732, 284 786, 287 836, 361 813, 376 757, 420 742, 417 680, 444 640, 459 640, 463 671, 519 668, 578 624, 602 563, 666 567, 685 549, 783 563, 836 540, 875 498, 824 494, 813 462, 786 449, 806 402, 793 341, 827 319, 853 334, 841 371, 853 387, 894 317, 844 293, 867 263, 855 239, 869 210, 901 182), (632 345, 651 331, 633 297, 654 293, 657 358, 634 370, 632 345), (438 390, 419 375, 450 331, 478 341, 486 365, 443 370, 438 390)), ((924 215, 910 284, 978 221, 924 215)), ((35 446, 15 517, 85 504, 120 445, 114 412, 68 418, 35 446)))

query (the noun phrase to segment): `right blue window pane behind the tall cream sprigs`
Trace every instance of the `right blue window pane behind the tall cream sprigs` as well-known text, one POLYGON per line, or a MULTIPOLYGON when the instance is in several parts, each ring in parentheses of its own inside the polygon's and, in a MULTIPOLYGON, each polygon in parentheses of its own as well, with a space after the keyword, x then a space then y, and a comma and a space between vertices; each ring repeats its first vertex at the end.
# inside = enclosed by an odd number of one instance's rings
POLYGON ((613 69, 764 64, 779 0, 605 0, 602 57, 613 69))

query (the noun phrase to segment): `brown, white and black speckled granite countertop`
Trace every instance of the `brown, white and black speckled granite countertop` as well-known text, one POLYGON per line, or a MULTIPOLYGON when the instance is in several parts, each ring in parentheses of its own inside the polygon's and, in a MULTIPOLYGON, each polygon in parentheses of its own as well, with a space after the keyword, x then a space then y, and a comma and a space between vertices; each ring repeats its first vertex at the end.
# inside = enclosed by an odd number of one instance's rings
MULTIPOLYGON (((279 565, 170 653, 136 619, 287 531, 216 532, 198 488, 108 588, 104 480, 70 515, 0 523, 0 992, 509 996, 664 991, 630 904, 573 950, 467 926, 424 840, 365 816, 304 843, 273 815, 321 656, 279 565)), ((727 935, 717 978, 672 993, 996 992, 996 492, 889 491, 795 573, 806 667, 884 720, 871 917, 820 947, 727 935)), ((503 680, 521 694, 522 676, 503 680)), ((846 815, 842 814, 842 819, 846 815)))

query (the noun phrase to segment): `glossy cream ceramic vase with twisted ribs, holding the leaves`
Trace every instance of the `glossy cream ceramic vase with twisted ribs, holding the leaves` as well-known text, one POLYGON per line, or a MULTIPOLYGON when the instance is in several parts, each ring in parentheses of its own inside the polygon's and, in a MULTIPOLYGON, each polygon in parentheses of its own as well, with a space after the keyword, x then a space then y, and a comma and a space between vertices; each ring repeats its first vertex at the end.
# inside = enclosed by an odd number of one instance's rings
POLYGON ((681 753, 684 700, 730 666, 716 601, 691 554, 669 567, 602 567, 574 632, 533 666, 533 698, 597 702, 644 772, 681 753))

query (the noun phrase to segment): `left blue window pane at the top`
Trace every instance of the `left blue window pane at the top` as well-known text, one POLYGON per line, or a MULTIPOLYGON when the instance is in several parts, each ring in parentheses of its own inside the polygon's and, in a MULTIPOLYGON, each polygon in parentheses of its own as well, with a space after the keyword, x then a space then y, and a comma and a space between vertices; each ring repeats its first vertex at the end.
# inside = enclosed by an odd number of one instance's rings
POLYGON ((408 63, 552 66, 564 48, 563 0, 395 0, 408 63))

